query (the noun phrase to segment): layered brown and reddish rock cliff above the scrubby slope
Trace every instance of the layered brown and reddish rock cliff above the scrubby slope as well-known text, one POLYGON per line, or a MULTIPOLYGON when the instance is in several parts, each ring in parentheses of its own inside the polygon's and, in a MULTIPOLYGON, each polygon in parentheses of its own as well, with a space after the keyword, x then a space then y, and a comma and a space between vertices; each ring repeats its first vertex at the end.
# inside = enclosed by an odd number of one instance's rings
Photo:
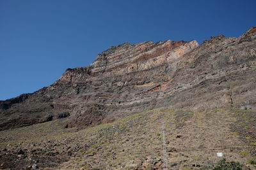
POLYGON ((239 38, 111 46, 51 86, 0 101, 0 129, 68 117, 65 127, 111 122, 152 108, 256 107, 256 27, 239 38))

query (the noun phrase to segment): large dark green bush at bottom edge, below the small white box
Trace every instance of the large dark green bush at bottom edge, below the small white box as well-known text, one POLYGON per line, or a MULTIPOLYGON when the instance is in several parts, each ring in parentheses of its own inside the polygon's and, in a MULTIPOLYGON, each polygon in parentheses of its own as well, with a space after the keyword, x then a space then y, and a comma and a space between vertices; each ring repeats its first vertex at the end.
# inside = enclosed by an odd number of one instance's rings
POLYGON ((243 165, 239 162, 227 162, 226 159, 222 159, 212 166, 202 167, 201 170, 243 170, 243 165))

